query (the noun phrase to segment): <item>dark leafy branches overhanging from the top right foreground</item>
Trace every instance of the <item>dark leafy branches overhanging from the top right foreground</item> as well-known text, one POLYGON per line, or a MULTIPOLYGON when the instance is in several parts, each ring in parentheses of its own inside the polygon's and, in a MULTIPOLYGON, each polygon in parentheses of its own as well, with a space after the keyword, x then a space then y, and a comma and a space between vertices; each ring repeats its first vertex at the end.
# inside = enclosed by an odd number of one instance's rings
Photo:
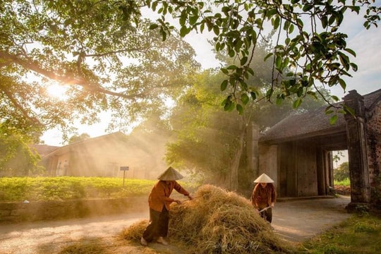
MULTIPOLYGON (((284 100, 291 95, 294 107, 301 105, 306 95, 320 95, 319 84, 340 85, 344 90, 346 83, 343 76, 351 76, 356 71, 356 63, 350 56, 356 52, 346 47, 346 34, 339 28, 345 16, 351 12, 357 14, 365 9, 365 28, 375 25, 380 20, 381 7, 372 5, 375 1, 300 1, 290 4, 282 1, 210 1, 210 8, 204 1, 146 1, 153 11, 162 13, 152 29, 159 28, 163 39, 167 38, 171 25, 166 22, 167 13, 179 19, 181 36, 192 30, 214 32, 214 49, 226 50, 229 56, 236 57, 238 64, 222 68, 226 79, 221 83, 221 90, 233 87, 224 100, 226 111, 238 110, 241 114, 248 99, 258 99, 258 91, 247 83, 256 69, 250 67, 256 45, 264 35, 267 25, 276 31, 276 43, 268 56, 273 56, 272 85, 265 93, 265 99, 284 100), (347 4, 349 2, 349 4, 347 4), (216 11, 212 11, 216 10, 216 11), (306 22, 307 21, 307 22, 306 22), (308 23, 309 25, 305 25, 308 23), (275 87, 279 85, 279 90, 275 87)), ((331 96, 334 101, 339 98, 331 96)), ((345 105, 332 104, 327 114, 335 111, 353 113, 345 105), (343 111, 341 108, 344 108, 343 111)), ((337 114, 331 117, 334 123, 337 114)))

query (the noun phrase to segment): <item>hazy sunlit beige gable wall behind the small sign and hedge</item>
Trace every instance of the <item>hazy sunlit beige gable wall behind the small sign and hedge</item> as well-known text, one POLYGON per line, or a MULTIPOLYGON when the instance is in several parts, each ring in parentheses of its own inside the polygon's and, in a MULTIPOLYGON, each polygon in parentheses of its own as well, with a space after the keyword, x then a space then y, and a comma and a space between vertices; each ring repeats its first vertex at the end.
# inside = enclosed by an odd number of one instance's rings
POLYGON ((66 153, 45 162, 51 176, 103 176, 126 179, 157 179, 164 161, 149 152, 115 138, 73 145, 66 153), (120 167, 129 167, 121 171, 120 167))

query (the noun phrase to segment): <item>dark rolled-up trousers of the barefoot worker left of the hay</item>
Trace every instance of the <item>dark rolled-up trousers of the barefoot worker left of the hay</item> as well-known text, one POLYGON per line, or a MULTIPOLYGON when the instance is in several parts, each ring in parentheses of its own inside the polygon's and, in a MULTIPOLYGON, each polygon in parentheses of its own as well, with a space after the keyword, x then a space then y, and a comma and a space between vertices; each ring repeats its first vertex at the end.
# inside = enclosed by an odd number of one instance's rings
POLYGON ((169 212, 163 207, 162 212, 150 209, 150 223, 143 232, 143 238, 148 243, 155 241, 160 236, 167 237, 169 224, 169 212))

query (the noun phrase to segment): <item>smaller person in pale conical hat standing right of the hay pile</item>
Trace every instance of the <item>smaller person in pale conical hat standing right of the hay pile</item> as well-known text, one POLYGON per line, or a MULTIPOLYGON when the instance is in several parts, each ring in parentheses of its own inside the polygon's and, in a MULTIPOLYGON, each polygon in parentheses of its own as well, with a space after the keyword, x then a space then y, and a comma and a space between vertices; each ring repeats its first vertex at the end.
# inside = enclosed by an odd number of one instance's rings
POLYGON ((272 207, 274 207, 277 193, 274 187, 274 181, 267 174, 261 174, 251 194, 251 204, 259 211, 260 217, 272 222, 272 207))

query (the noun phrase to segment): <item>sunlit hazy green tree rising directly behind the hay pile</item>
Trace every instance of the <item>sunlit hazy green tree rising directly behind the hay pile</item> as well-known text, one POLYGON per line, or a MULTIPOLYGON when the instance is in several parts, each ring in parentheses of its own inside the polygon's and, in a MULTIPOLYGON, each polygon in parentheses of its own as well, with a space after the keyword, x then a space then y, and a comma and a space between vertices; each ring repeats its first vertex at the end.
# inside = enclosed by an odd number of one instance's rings
POLYGON ((222 78, 212 70, 193 77, 193 85, 179 98, 169 118, 176 139, 167 144, 166 160, 188 173, 203 175, 208 182, 236 189, 231 181, 238 177, 231 176, 231 169, 242 117, 222 111, 223 94, 215 85, 222 78))

